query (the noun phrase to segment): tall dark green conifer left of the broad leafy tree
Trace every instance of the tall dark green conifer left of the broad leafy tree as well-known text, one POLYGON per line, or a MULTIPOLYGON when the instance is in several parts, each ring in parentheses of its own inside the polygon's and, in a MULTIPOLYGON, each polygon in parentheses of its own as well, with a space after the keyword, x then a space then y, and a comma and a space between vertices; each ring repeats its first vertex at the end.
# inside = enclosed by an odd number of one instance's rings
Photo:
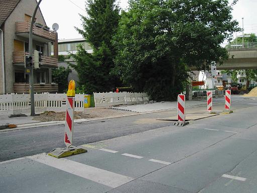
POLYGON ((87 17, 80 15, 83 29, 76 29, 93 47, 93 53, 78 46, 78 52, 71 54, 76 64, 69 65, 78 72, 79 84, 85 85, 88 93, 110 91, 119 84, 119 78, 111 73, 115 50, 110 43, 117 30, 119 7, 115 0, 89 0, 86 12, 87 17))

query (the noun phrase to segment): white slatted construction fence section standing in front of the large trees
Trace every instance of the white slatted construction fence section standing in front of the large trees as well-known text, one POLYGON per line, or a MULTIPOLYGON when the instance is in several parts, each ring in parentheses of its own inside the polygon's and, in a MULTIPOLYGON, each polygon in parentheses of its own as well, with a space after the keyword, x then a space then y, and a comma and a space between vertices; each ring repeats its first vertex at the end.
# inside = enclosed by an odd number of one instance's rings
POLYGON ((113 105, 134 105, 149 101, 147 93, 133 92, 94 92, 95 107, 113 105))

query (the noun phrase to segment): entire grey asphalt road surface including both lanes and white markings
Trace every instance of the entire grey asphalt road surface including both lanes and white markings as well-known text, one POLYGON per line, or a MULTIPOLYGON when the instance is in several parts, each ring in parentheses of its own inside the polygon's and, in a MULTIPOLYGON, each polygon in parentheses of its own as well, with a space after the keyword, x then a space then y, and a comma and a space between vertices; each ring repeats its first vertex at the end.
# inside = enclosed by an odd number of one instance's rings
POLYGON ((186 127, 156 120, 176 111, 76 124, 88 152, 61 159, 38 153, 64 146, 63 125, 1 132, 1 160, 18 158, 0 162, 1 192, 257 192, 257 100, 231 107, 186 127))

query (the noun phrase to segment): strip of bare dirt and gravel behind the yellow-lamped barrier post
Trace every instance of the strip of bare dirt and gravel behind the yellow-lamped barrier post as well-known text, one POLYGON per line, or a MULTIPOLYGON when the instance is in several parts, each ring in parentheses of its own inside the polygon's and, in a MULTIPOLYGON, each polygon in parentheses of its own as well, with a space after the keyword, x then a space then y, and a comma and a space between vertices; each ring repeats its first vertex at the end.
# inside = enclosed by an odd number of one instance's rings
MULTIPOLYGON (((84 112, 75 112, 74 119, 90 119, 97 117, 110 117, 117 115, 135 114, 134 112, 121 111, 108 108, 87 108, 84 112)), ((37 121, 65 121, 65 112, 47 111, 33 118, 37 121)))

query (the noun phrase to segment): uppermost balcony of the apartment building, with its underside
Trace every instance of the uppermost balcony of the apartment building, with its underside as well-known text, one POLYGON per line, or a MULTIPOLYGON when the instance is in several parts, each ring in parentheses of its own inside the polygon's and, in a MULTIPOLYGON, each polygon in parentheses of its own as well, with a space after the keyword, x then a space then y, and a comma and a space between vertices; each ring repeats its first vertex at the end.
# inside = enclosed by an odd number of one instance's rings
MULTIPOLYGON (((31 22, 16 22, 16 34, 25 38, 29 38, 31 22)), ((33 40, 39 42, 55 42, 56 32, 52 30, 45 30, 43 28, 33 25, 33 40)))

